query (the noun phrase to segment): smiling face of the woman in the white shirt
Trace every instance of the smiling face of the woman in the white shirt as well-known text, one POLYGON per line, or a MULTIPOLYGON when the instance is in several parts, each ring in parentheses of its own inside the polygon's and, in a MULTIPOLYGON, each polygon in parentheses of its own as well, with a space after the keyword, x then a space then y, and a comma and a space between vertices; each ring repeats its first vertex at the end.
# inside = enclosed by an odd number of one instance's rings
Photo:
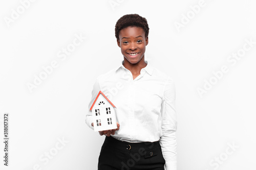
POLYGON ((123 57, 132 64, 136 64, 144 57, 148 37, 140 27, 127 27, 120 31, 118 46, 123 57))

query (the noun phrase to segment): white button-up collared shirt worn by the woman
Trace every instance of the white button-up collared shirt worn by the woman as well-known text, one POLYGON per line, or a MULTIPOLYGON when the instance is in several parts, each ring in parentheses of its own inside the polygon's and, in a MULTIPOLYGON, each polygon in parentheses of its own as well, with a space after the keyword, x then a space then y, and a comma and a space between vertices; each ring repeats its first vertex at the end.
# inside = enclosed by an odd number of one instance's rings
POLYGON ((90 108, 99 93, 116 106, 120 129, 112 135, 127 142, 154 142, 160 139, 166 170, 177 169, 177 115, 175 83, 164 72, 147 65, 133 80, 132 72, 122 64, 97 77, 86 115, 87 125, 93 129, 90 108))

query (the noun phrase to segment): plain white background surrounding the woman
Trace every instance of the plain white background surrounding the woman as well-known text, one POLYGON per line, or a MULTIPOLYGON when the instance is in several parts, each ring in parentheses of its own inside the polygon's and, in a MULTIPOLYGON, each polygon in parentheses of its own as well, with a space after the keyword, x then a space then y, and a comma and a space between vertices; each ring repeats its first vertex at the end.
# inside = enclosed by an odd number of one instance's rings
POLYGON ((256 44, 236 64, 227 59, 242 52, 245 39, 256 41, 255 1, 205 0, 194 16, 190 6, 200 1, 110 2, 38 0, 22 11, 18 0, 1 1, 1 169, 97 169, 104 136, 85 123, 91 91, 97 76, 122 61, 115 24, 132 13, 145 17, 150 27, 145 59, 176 83, 178 169, 254 169, 256 44), (8 23, 17 9, 19 16, 8 23), (177 29, 175 23, 182 18, 185 23, 187 14, 188 23, 177 29), (75 35, 86 39, 61 60, 58 53, 75 35), (27 84, 52 61, 58 67, 30 92, 27 84), (212 71, 223 65, 229 71, 214 78, 212 71), (216 84, 200 96, 198 88, 210 79, 216 84), (3 165, 4 113, 10 115, 8 167, 3 165), (54 149, 60 139, 66 144, 54 149), (50 151, 54 154, 46 161, 50 151))

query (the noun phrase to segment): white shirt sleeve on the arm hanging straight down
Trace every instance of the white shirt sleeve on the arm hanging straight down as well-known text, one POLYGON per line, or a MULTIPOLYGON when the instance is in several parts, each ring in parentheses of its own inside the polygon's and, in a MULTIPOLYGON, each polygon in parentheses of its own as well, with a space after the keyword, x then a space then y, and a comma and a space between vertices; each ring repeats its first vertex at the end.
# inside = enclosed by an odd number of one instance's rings
POLYGON ((175 109, 175 83, 168 78, 162 101, 162 136, 160 145, 165 159, 165 170, 177 170, 177 114, 175 109))

